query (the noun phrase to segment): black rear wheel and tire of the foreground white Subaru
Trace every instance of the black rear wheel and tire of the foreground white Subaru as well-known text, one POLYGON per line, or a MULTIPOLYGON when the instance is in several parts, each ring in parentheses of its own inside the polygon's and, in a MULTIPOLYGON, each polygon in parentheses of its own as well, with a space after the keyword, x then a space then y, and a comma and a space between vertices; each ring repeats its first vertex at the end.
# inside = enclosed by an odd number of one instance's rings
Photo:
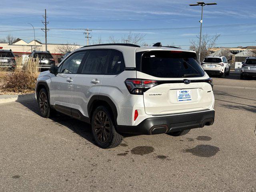
POLYGON ((101 148, 118 146, 123 136, 116 132, 111 110, 105 106, 98 106, 92 115, 92 135, 96 144, 101 148))

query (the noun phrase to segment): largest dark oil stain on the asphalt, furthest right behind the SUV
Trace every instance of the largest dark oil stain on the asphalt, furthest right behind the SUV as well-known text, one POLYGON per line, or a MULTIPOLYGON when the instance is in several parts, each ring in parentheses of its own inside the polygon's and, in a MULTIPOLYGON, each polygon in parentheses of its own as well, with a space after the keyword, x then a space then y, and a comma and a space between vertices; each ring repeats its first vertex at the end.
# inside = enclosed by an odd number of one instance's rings
POLYGON ((192 149, 186 149, 184 152, 191 153, 198 157, 212 157, 220 151, 220 148, 212 145, 198 145, 192 149))

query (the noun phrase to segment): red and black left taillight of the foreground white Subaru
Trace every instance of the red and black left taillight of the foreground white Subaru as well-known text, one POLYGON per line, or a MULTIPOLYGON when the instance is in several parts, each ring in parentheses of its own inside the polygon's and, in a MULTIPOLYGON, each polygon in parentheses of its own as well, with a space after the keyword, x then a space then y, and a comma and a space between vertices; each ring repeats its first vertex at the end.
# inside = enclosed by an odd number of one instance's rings
POLYGON ((130 94, 142 95, 146 90, 158 85, 155 80, 126 79, 126 87, 130 94))

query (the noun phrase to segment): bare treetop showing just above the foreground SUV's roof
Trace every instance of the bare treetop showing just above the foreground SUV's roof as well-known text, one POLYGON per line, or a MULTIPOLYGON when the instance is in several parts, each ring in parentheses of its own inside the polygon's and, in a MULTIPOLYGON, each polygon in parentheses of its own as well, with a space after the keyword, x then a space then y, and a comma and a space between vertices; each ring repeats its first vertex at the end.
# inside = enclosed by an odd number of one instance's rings
POLYGON ((131 43, 131 44, 143 44, 142 40, 146 35, 144 34, 132 34, 132 32, 129 32, 129 34, 126 36, 122 36, 121 39, 115 39, 114 36, 109 36, 108 42, 109 43, 131 43))

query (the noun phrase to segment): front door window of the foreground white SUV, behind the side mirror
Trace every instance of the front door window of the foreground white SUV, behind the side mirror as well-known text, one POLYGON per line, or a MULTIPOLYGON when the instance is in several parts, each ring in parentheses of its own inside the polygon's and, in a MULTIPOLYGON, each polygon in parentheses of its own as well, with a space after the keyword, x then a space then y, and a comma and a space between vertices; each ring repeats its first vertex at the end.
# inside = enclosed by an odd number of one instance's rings
POLYGON ((59 73, 77 73, 86 52, 87 51, 80 51, 72 54, 59 67, 59 73))

